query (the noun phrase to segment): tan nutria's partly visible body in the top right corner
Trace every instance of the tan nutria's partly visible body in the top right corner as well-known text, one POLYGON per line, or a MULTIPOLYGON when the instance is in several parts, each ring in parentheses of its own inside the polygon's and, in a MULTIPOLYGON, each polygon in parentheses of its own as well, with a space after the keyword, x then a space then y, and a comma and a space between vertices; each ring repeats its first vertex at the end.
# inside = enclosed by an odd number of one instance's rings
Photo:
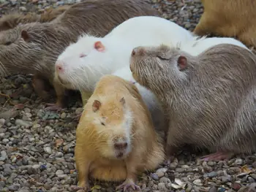
POLYGON ((194 33, 237 37, 246 46, 256 45, 255 0, 201 0, 203 15, 194 33))

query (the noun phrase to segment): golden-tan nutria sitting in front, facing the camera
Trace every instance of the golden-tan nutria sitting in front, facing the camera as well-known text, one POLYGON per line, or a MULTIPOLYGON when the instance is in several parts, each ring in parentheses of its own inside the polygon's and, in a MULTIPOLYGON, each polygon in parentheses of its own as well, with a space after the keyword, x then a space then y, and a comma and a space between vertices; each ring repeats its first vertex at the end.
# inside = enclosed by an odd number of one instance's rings
POLYGON ((89 188, 89 177, 122 181, 117 188, 138 188, 138 174, 165 160, 162 138, 138 88, 115 75, 97 82, 76 130, 75 164, 78 187, 89 188))

